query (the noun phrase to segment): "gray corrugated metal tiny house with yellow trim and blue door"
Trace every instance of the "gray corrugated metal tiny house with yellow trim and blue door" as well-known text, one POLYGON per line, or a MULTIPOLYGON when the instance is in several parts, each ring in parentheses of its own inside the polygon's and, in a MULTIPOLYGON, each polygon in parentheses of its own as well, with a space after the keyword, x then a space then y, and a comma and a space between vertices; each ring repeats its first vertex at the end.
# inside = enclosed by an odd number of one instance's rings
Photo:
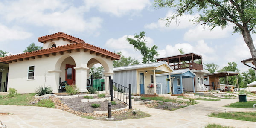
POLYGON ((116 67, 113 68, 113 82, 125 87, 131 84, 132 94, 159 94, 163 90, 166 91, 166 88, 160 89, 161 85, 157 84, 156 74, 172 71, 166 62, 116 67))

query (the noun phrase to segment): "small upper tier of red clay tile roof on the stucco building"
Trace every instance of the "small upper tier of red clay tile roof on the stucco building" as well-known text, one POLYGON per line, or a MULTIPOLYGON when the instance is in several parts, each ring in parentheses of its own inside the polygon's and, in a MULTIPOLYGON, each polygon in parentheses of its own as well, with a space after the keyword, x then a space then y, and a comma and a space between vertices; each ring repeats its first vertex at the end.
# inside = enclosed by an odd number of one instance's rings
POLYGON ((48 41, 48 40, 55 39, 55 38, 60 38, 60 37, 66 38, 66 39, 68 39, 70 41, 74 41, 76 43, 80 43, 80 42, 83 41, 79 38, 73 37, 72 35, 68 35, 64 32, 58 32, 58 33, 55 33, 55 34, 45 35, 45 36, 39 37, 38 41, 41 42, 41 43, 44 43, 44 41, 48 41))

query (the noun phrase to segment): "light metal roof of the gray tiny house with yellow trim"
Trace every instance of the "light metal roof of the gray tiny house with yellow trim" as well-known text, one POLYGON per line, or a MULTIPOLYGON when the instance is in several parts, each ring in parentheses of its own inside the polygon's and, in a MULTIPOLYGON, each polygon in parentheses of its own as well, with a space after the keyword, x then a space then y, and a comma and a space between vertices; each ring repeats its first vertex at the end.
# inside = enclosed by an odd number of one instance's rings
POLYGON ((129 65, 129 66, 123 66, 123 67, 115 67, 115 68, 113 68, 113 72, 123 71, 123 70, 134 70, 134 69, 141 69, 141 68, 158 67, 163 64, 166 64, 166 66, 168 66, 172 70, 172 68, 167 64, 167 62, 162 61, 162 62, 154 62, 154 63, 148 63, 148 64, 137 64, 137 65, 129 65))

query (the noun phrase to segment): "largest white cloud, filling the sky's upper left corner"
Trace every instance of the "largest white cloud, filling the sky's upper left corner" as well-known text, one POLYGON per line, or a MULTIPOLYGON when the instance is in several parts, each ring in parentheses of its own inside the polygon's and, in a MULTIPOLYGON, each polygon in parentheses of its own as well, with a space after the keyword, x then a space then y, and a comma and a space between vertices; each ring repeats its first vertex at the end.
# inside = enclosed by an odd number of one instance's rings
POLYGON ((61 0, 18 0, 0 3, 0 6, 0 15, 8 22, 48 26, 56 31, 91 32, 101 28, 103 22, 100 17, 84 20, 84 6, 74 7, 61 0))

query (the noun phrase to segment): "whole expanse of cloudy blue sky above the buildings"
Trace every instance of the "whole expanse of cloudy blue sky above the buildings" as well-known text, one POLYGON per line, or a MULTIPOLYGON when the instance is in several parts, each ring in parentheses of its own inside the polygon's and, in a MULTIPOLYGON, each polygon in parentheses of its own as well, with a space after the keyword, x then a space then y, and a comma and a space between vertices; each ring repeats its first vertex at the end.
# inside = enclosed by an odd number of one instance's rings
MULTIPOLYGON (((121 51, 126 57, 141 60, 139 51, 125 40, 145 31, 147 45, 158 46, 160 57, 185 53, 202 55, 203 63, 221 68, 238 63, 246 71, 243 59, 251 58, 242 35, 225 29, 209 28, 189 22, 198 14, 184 15, 169 27, 159 20, 172 15, 173 9, 155 9, 154 0, 1 0, 0 50, 12 55, 23 52, 31 43, 42 46, 37 38, 64 32, 86 43, 121 51)), ((253 34, 256 42, 256 34, 253 34)))

